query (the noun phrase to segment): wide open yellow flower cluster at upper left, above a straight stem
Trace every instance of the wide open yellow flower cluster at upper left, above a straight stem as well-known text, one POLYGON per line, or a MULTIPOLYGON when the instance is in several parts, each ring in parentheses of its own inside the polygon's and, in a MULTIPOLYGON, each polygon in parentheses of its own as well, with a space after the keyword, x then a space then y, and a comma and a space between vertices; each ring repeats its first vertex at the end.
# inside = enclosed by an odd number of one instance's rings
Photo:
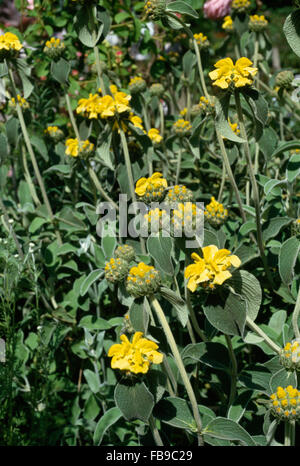
POLYGON ((129 101, 131 96, 125 92, 119 92, 116 86, 110 86, 112 95, 100 96, 99 94, 90 94, 87 99, 80 99, 76 108, 77 113, 82 113, 89 119, 93 118, 111 118, 117 114, 123 114, 130 111, 129 101))

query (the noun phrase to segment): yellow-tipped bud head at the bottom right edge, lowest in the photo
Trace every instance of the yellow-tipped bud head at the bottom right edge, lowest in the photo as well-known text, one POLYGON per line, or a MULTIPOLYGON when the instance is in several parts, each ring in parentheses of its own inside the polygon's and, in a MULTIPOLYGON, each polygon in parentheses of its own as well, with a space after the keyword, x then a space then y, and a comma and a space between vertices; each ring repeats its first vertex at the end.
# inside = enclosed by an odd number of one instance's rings
POLYGON ((289 385, 286 388, 277 387, 271 396, 271 411, 280 419, 293 420, 300 416, 300 392, 289 385))

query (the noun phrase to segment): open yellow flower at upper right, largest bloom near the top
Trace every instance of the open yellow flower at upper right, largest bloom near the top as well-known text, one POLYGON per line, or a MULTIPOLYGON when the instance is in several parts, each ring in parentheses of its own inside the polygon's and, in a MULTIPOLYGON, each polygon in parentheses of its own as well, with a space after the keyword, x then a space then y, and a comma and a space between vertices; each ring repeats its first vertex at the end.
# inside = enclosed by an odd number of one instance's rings
POLYGON ((239 58, 235 65, 231 58, 224 58, 215 64, 215 70, 209 73, 213 86, 227 89, 231 83, 235 87, 244 87, 253 83, 257 68, 252 68, 252 61, 246 57, 239 58))

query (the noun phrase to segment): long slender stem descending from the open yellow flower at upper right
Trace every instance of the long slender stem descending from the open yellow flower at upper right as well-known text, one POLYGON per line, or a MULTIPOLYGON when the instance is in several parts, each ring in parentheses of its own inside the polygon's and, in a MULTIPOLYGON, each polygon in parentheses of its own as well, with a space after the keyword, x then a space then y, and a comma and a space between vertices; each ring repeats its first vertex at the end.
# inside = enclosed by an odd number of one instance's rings
POLYGON ((253 200, 254 200, 254 206, 255 206, 255 214, 256 214, 256 230, 257 230, 257 244, 259 247, 261 259, 264 265, 264 269, 266 272, 267 279, 273 288, 273 278, 272 274, 270 272, 267 259, 265 256, 265 251, 264 251, 264 244, 263 244, 263 236, 262 236, 262 228, 261 228, 261 216, 260 216, 260 200, 259 200, 259 191, 258 191, 258 186, 257 186, 257 181, 255 178, 254 170, 253 170, 253 165, 252 165, 252 160, 251 160, 251 154, 250 154, 250 148, 249 148, 249 142, 248 142, 248 137, 247 137, 247 132, 245 128, 245 123, 244 123, 244 116, 243 116, 243 111, 242 111, 242 106, 241 106, 241 100, 240 100, 240 94, 239 91, 235 92, 235 103, 236 103, 236 110, 238 114, 238 119, 239 119, 239 126, 241 130, 241 136, 245 140, 244 145, 244 153, 248 165, 248 171, 250 175, 250 181, 252 185, 252 193, 253 193, 253 200))

